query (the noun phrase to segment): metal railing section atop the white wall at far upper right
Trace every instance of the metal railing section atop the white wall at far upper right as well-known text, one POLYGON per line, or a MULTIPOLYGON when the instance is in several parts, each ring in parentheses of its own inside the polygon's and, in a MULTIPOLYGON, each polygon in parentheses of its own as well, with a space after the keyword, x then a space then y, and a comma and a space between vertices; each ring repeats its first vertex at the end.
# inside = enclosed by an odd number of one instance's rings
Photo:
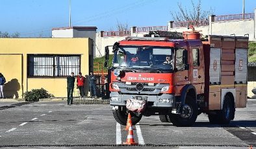
POLYGON ((214 21, 229 21, 229 20, 236 20, 236 19, 254 19, 255 14, 231 14, 225 16, 216 16, 214 17, 214 21))

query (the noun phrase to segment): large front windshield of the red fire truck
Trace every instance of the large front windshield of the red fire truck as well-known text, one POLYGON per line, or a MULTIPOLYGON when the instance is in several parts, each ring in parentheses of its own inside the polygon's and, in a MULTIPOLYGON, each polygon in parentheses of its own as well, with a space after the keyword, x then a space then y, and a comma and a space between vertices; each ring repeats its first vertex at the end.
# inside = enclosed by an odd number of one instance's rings
POLYGON ((114 52, 113 67, 133 69, 173 69, 173 49, 171 47, 127 47, 114 52))

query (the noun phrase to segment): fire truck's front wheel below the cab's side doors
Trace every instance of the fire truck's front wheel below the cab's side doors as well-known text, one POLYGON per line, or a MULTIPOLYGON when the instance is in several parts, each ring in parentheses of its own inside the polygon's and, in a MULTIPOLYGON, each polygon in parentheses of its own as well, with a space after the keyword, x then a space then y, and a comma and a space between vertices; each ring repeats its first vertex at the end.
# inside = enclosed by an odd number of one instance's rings
POLYGON ((181 114, 179 115, 170 115, 170 121, 173 125, 178 127, 192 126, 198 117, 198 105, 196 104, 196 101, 187 95, 185 105, 181 110, 181 114))

